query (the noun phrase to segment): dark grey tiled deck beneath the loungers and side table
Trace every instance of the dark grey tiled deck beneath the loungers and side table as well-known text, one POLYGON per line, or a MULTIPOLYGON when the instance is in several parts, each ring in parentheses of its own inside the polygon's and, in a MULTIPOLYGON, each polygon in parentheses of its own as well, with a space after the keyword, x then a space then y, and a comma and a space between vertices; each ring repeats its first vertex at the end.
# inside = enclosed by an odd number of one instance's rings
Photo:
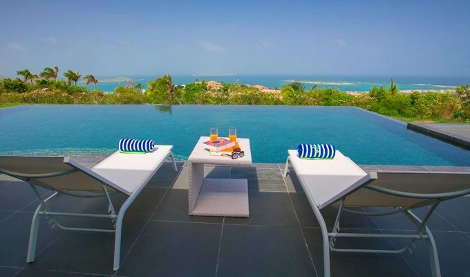
MULTIPOLYGON (((86 166, 99 157, 79 158, 86 166)), ((250 217, 190 217, 188 167, 178 172, 164 163, 124 217, 121 267, 114 272, 113 234, 50 229, 39 226, 37 258, 26 263, 32 214, 38 201, 28 184, 0 175, 0 276, 322 276, 321 233, 294 174, 282 176, 284 164, 254 163, 252 167, 206 166, 205 175, 248 179, 250 217)), ((470 172, 467 167, 361 166, 366 171, 470 172)), ((41 190, 44 195, 50 194, 41 190)), ((122 203, 119 195, 116 200, 122 203)), ((106 211, 105 199, 59 197, 57 207, 75 213, 106 211)), ((422 216, 428 207, 414 212, 422 216)), ((438 206, 429 220, 440 258, 442 276, 467 276, 470 269, 470 197, 438 206)), ((335 208, 322 213, 332 226, 335 208)), ((74 224, 77 219, 64 219, 74 224)), ((83 221, 83 220, 82 220, 83 221)), ((81 221, 81 222, 82 222, 81 221)), ((85 220, 91 227, 109 222, 85 220)), ((413 225, 402 215, 360 217, 344 213, 341 227, 370 233, 406 230, 413 225)), ((109 226, 108 226, 109 225, 109 226)), ((363 239, 341 247, 397 248, 403 240, 363 239), (370 242, 370 241, 368 241, 370 242)), ((427 245, 400 255, 331 254, 332 276, 430 276, 427 245)))

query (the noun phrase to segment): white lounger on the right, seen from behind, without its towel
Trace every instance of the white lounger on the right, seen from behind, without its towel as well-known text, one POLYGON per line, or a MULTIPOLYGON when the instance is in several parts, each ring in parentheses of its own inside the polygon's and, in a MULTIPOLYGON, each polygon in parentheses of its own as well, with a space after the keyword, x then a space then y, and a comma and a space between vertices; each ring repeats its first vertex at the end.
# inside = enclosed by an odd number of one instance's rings
POLYGON ((336 151, 332 160, 305 160, 297 157, 296 150, 288 150, 284 177, 291 163, 313 213, 319 222, 323 238, 324 276, 330 276, 330 251, 350 253, 403 253, 417 240, 429 242, 429 258, 433 276, 440 276, 438 251, 426 222, 440 202, 470 194, 470 172, 370 172, 367 174, 348 157, 336 151), (339 208, 330 233, 320 213, 321 208, 335 205, 339 208), (411 208, 431 205, 423 219, 411 208), (348 207, 348 208, 346 208, 348 207), (370 213, 355 207, 390 207, 389 211, 370 213), (365 216, 403 213, 417 226, 413 234, 339 233, 341 212, 365 216), (404 238, 410 242, 403 249, 339 249, 337 238, 404 238))

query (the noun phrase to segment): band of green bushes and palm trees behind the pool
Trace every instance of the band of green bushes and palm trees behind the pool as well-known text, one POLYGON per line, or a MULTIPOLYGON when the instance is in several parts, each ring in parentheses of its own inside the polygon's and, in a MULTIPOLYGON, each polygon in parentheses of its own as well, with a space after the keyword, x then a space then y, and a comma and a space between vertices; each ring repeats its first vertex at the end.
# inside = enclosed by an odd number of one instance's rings
POLYGON ((400 93, 391 80, 389 88, 374 86, 368 93, 353 95, 316 86, 306 90, 301 82, 290 82, 281 90, 259 90, 236 82, 219 88, 211 88, 204 81, 176 86, 171 76, 163 75, 149 82, 147 89, 140 83, 129 82, 113 93, 104 93, 97 90, 97 80, 91 74, 85 75, 84 80, 93 84, 93 91, 77 86, 82 76, 79 72, 66 71, 66 81, 57 80, 58 72, 57 66, 46 67, 39 78, 24 69, 18 71, 23 80, 0 80, 0 107, 10 103, 355 106, 406 121, 470 122, 470 85, 467 84, 455 89, 455 93, 400 93))

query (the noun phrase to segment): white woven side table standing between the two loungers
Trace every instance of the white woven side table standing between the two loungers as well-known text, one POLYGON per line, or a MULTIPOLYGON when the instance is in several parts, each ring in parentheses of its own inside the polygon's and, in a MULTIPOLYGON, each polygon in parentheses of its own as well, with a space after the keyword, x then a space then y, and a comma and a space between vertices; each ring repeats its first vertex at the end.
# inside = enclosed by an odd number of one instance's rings
POLYGON ((243 158, 212 156, 205 150, 209 136, 201 136, 189 155, 189 215, 249 217, 247 179, 204 178, 204 165, 252 166, 250 139, 238 138, 243 158))

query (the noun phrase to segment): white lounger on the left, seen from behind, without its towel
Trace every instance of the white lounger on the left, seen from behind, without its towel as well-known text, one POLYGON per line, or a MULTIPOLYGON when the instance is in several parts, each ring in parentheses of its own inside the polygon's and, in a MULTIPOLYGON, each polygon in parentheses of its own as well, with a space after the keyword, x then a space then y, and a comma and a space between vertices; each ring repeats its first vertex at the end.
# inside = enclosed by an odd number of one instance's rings
POLYGON ((173 161, 174 170, 178 170, 171 152, 172 148, 171 145, 156 145, 153 151, 147 154, 115 152, 92 169, 82 166, 69 157, 0 156, 0 172, 27 181, 41 202, 32 217, 26 261, 35 260, 39 215, 44 215, 50 224, 57 225, 61 229, 115 233, 113 269, 118 270, 124 213, 168 157, 173 161), (54 190, 55 193, 47 199, 42 199, 36 186, 54 190), (84 195, 84 192, 87 194, 84 195), (118 213, 109 197, 110 193, 115 192, 128 196, 118 213), (109 202, 109 214, 50 211, 48 202, 60 194, 76 197, 106 197, 109 202), (55 216, 109 218, 113 222, 114 229, 66 227, 59 224, 55 216))

